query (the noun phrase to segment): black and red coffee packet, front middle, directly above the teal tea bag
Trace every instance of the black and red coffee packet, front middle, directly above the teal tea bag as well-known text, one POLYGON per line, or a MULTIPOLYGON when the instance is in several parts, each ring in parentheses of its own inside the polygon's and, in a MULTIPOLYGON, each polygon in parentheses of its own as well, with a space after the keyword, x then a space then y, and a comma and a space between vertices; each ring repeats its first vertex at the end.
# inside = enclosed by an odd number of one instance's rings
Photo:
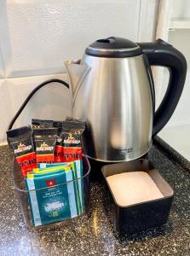
POLYGON ((37 163, 52 163, 55 160, 57 128, 33 129, 37 163))

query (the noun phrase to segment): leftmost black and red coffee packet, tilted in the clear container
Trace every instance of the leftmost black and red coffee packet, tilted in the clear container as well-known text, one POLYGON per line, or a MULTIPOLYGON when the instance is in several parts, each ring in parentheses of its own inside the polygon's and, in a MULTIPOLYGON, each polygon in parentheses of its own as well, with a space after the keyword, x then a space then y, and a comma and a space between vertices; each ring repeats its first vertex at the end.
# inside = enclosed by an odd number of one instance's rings
POLYGON ((14 151, 15 160, 20 167, 22 177, 26 177, 27 172, 30 172, 32 168, 37 168, 31 127, 23 126, 7 131, 7 140, 14 151))

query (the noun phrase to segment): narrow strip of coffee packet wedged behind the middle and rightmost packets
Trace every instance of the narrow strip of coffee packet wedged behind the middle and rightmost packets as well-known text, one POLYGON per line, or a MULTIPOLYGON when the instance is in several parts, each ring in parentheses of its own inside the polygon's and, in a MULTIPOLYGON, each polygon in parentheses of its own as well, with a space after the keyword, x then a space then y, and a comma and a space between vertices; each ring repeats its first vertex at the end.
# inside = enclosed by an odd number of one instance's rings
POLYGON ((63 161, 63 145, 62 145, 62 127, 63 122, 54 121, 53 126, 58 129, 57 131, 57 141, 55 146, 55 163, 63 161))

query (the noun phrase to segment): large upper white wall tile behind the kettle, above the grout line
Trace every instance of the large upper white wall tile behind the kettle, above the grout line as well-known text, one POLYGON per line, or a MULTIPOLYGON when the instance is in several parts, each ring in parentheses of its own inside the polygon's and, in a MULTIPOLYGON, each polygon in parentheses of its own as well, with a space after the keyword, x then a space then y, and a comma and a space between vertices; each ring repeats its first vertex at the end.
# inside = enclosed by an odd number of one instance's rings
POLYGON ((138 33, 141 1, 1 2, 7 78, 63 73, 63 60, 80 58, 96 38, 138 33))

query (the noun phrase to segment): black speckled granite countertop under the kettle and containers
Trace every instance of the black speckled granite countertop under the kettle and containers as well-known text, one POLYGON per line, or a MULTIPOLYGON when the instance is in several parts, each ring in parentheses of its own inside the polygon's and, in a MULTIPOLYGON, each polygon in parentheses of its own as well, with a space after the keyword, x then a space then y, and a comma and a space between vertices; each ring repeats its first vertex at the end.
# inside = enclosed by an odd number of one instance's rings
POLYGON ((15 195, 12 155, 1 147, 0 255, 190 255, 190 168, 169 160, 172 148, 166 156, 162 142, 155 143, 158 148, 153 146, 149 159, 175 190, 170 218, 162 227, 126 237, 112 231, 99 182, 91 183, 89 214, 55 228, 28 230, 15 195))

